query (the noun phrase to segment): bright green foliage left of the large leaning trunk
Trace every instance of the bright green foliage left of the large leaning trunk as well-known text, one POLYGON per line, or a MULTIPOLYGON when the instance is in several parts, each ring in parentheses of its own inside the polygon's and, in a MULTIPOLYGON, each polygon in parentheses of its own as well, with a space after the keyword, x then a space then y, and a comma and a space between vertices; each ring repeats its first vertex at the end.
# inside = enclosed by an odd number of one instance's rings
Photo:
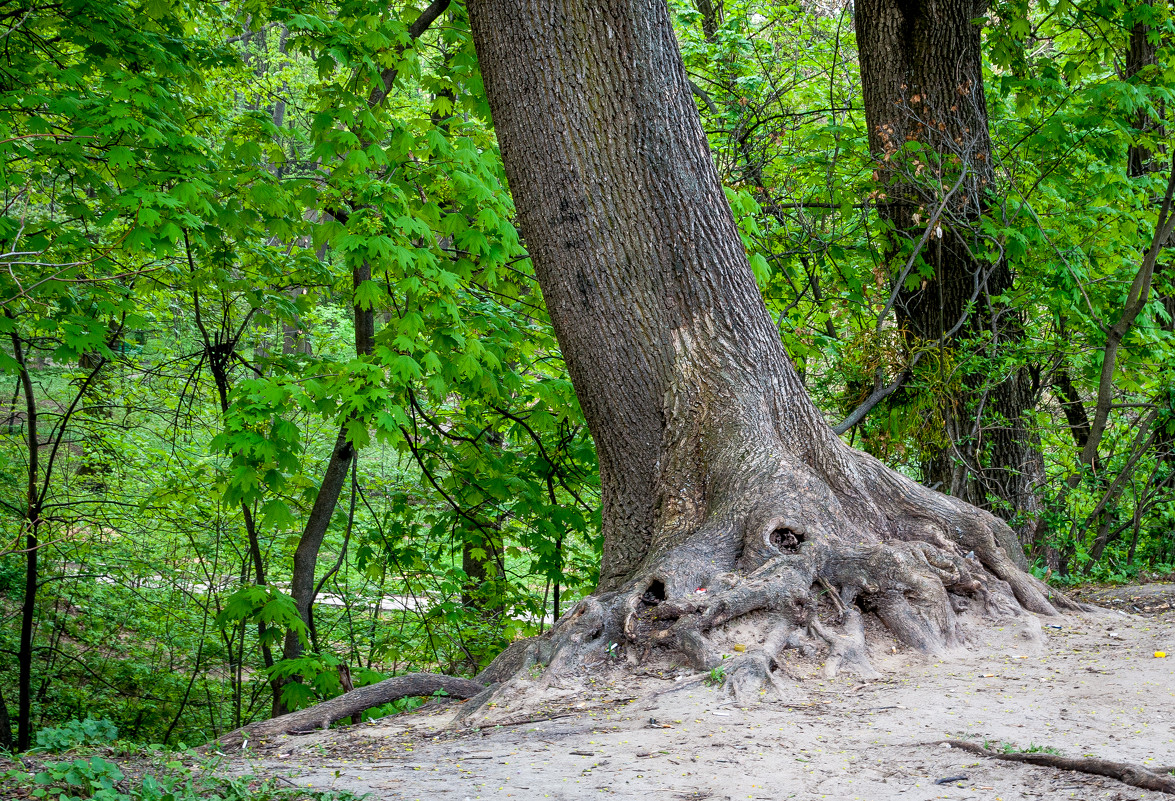
MULTIPOLYGON (((39 720, 95 709, 133 739, 199 741, 264 714, 270 680, 298 706, 341 692, 341 666, 357 684, 475 671, 540 625, 551 585, 593 585, 595 452, 464 11, 419 52, 412 16, 67 4, 7 36, 0 335, 25 352, 0 349, 0 370, 32 373, 56 437, 34 477, 56 510, 39 720), (369 102, 389 67, 389 97, 369 102), (355 307, 378 321, 370 355, 355 307), (341 428, 355 490, 310 630, 283 587, 341 428), (280 658, 287 631, 296 660, 280 658)), ((28 443, 13 415, 0 507, 15 537, 28 443)), ((0 556, 5 603, 22 578, 0 556)), ((15 653, 15 628, 0 647, 15 653)))

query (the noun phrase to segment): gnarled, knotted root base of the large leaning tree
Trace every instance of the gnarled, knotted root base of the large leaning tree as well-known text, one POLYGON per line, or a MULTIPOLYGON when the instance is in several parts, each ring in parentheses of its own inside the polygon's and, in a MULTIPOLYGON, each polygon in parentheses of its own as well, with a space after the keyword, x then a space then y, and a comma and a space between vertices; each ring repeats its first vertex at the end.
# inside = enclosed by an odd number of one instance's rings
POLYGON ((622 587, 582 600, 549 633, 508 648, 478 679, 501 682, 495 700, 517 711, 519 700, 558 693, 602 665, 667 655, 748 702, 767 686, 786 695, 788 652, 822 657, 826 677, 873 679, 871 647, 882 632, 891 647, 939 658, 968 647, 985 624, 1028 618, 1039 631, 1033 614, 1090 608, 1021 570, 1019 551, 1001 545, 1018 548, 1014 534, 998 518, 864 453, 838 456, 855 460, 854 477, 872 489, 867 503, 852 490, 828 498, 833 482, 813 489, 779 466, 622 587), (848 500, 857 514, 846 514, 848 500), (801 523, 797 507, 828 511, 833 525, 801 523), (874 526, 840 534, 835 524, 859 520, 861 507, 874 526))

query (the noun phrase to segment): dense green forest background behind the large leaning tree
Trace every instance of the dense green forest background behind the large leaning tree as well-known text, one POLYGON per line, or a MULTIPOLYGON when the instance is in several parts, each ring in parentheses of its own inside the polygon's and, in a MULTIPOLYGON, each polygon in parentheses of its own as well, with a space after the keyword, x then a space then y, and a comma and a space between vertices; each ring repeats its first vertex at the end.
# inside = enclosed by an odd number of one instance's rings
MULTIPOLYGON (((670 6, 838 432, 1006 518, 1041 578, 1175 572, 1170 8, 996 2, 983 86, 913 121, 952 135, 879 148, 851 5, 670 6), (987 267, 931 335, 945 247, 987 267)), ((0 23, 0 745, 199 743, 472 674, 591 591, 595 451, 461 5, 0 23)))

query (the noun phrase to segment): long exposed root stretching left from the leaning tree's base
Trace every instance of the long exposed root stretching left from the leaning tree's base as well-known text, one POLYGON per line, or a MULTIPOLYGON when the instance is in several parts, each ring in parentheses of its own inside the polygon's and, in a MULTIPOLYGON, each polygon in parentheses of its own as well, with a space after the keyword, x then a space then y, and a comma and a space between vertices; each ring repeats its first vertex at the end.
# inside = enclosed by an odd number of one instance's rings
POLYGON ((357 715, 383 704, 402 698, 432 695, 441 689, 454 698, 474 698, 485 691, 485 685, 471 679, 437 673, 397 675, 367 687, 358 687, 306 709, 242 726, 221 735, 215 742, 221 748, 229 748, 242 745, 246 740, 256 741, 280 734, 304 734, 329 728, 331 723, 343 718, 357 715))

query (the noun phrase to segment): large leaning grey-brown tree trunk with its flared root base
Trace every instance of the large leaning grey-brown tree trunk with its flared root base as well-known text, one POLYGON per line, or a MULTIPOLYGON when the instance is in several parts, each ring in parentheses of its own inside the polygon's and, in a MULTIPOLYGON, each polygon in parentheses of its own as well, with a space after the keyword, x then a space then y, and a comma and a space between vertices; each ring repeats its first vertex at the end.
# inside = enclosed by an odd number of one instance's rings
MULTIPOLYGON (((955 610, 1053 613, 1000 520, 845 445, 807 398, 756 287, 664 0, 470 0, 523 235, 599 452, 596 593, 483 678, 662 644, 720 662, 721 624, 872 668, 860 612, 936 653, 955 610), (833 586, 846 634, 820 621, 833 586), (699 592, 701 591, 701 592, 699 592), (808 642, 811 645, 811 642, 808 642)), ((521 673, 519 675, 526 675, 521 673)), ((546 679, 544 679, 546 680, 546 679)))

